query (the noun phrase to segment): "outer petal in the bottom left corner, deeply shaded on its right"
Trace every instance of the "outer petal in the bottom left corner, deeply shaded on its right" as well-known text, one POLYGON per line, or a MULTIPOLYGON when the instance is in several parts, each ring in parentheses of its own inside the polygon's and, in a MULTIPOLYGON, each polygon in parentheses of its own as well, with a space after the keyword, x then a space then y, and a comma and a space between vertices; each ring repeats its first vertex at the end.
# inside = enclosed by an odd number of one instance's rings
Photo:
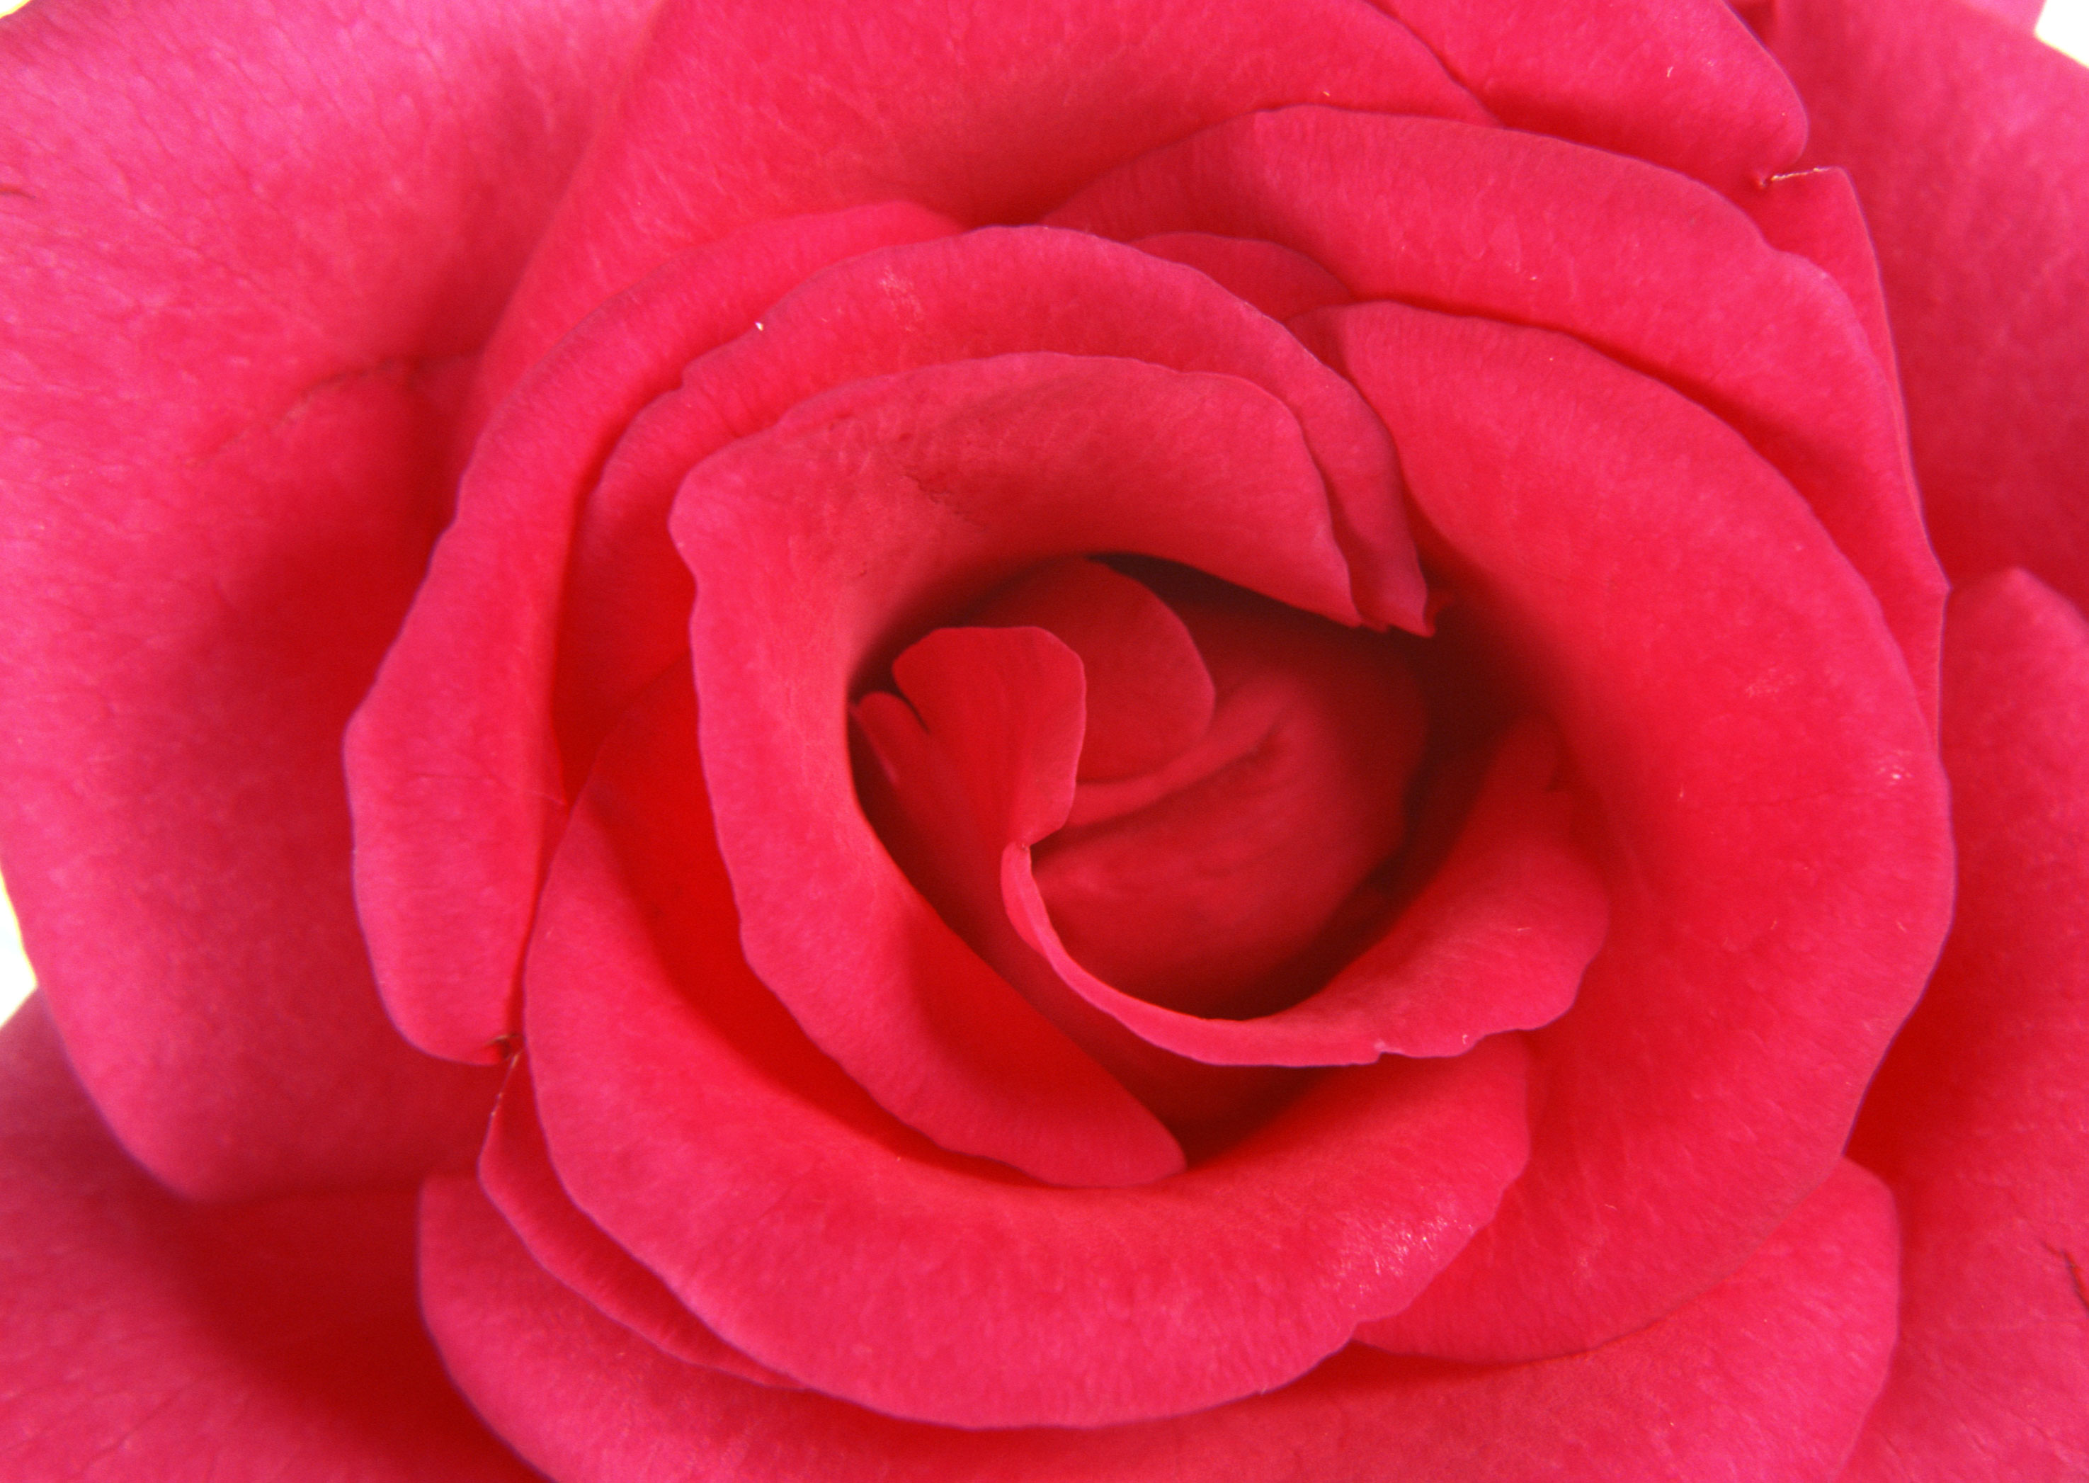
POLYGON ((190 1205, 111 1140, 42 1001, 0 1030, 0 1473, 522 1483, 443 1376, 405 1188, 190 1205))

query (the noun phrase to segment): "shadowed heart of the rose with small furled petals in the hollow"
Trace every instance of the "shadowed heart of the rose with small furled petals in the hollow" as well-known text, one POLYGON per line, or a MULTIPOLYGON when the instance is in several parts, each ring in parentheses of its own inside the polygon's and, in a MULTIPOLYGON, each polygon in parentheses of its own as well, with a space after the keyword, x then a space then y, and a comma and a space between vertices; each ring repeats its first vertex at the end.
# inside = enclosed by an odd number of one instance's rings
MULTIPOLYGON (((953 785, 909 762, 888 725, 900 702, 871 696, 856 714, 884 767, 867 804, 923 894, 1019 988, 1036 975, 1009 967, 1026 950, 1007 932, 994 867, 1013 815, 982 792, 1030 794, 1038 838, 1022 844, 1036 892, 1086 971, 1193 1015, 1270 1013, 1314 988, 1287 969, 1402 844, 1421 691, 1393 639, 1180 568, 1124 566, 1032 568, 894 664, 921 721, 950 733, 928 710, 967 698, 1005 710, 1011 681, 990 673, 1001 662, 990 656, 1017 631, 1042 631, 1072 652, 1059 673, 1076 683, 1061 681, 1059 702, 1076 702, 1078 735, 1040 746, 1032 716, 999 742, 959 744, 940 758, 957 773, 1030 775, 953 785)), ((1022 704, 1036 702, 1034 681, 1013 683, 1028 691, 1022 704)), ((1074 719, 1057 725, 1070 733, 1074 719)))

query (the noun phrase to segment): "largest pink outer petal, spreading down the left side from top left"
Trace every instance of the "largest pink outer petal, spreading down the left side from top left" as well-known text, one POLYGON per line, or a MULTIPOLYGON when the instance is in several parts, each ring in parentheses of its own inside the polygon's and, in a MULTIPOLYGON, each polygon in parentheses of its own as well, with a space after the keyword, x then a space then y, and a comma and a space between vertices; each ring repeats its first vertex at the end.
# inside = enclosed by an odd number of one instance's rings
POLYGON ((0 850, 117 1136, 192 1193, 418 1174, 341 727, 443 520, 457 366, 627 4, 40 4, 0 27, 0 850))

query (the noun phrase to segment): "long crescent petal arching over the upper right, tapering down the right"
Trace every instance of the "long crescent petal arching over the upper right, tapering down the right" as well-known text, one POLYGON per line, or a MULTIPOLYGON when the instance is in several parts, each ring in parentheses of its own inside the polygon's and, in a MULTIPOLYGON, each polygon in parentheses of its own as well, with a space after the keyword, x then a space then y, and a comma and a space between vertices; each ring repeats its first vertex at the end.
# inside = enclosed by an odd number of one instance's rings
POLYGON ((1155 150, 1049 219, 1268 238, 1360 299, 1556 328, 1652 370, 1799 487, 1934 700, 1943 581, 1891 378, 1836 284, 1709 190, 1531 134, 1287 109, 1155 150))

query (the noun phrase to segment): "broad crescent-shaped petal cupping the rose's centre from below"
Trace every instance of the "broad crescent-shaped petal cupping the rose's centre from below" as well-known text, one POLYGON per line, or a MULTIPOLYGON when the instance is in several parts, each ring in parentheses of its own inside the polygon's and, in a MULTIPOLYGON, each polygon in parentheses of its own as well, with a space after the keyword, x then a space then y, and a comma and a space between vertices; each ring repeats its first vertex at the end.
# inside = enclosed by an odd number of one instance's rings
POLYGON ((539 1111, 574 1201, 762 1364, 967 1427, 1195 1410, 1406 1303, 1521 1168, 1506 1040, 1329 1074, 1143 1188, 1038 1186, 938 1151, 721 944, 687 700, 660 700, 604 750, 545 890, 539 1111))

